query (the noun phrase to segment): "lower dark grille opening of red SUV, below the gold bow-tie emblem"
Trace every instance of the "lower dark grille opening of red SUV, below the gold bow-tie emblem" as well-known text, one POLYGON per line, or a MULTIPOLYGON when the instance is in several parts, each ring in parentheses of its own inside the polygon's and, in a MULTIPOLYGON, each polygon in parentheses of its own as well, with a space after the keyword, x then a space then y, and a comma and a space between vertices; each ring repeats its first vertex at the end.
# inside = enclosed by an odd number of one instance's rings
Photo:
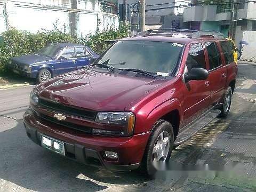
POLYGON ((61 125, 63 127, 68 127, 69 129, 74 129, 74 130, 82 131, 82 132, 85 132, 85 133, 91 133, 92 132, 92 128, 91 127, 87 127, 87 126, 83 126, 83 125, 78 125, 78 124, 74 124, 74 123, 70 123, 70 122, 66 122, 66 121, 65 122, 61 122, 61 121, 58 121, 57 119, 55 119, 53 117, 50 117, 50 116, 47 116, 47 115, 44 115, 44 114, 39 114, 39 116, 44 121, 55 123, 55 124, 61 125))

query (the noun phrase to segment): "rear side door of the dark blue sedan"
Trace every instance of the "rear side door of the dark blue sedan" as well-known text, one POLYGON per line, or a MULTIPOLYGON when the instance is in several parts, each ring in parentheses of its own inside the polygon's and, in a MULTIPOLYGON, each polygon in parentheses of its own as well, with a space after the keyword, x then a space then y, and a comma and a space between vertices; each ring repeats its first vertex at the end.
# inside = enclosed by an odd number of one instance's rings
POLYGON ((80 69, 84 66, 89 65, 92 55, 85 47, 75 47, 76 50, 76 66, 80 69))

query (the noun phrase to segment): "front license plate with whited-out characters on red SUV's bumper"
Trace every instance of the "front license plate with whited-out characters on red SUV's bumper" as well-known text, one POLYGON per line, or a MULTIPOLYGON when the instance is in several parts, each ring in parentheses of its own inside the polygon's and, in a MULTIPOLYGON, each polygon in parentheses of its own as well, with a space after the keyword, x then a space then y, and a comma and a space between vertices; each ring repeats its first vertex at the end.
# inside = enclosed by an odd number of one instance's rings
POLYGON ((65 145, 63 142, 61 142, 57 139, 53 139, 53 138, 47 137, 45 135, 42 135, 41 143, 42 143, 42 147, 44 147, 46 149, 50 149, 50 150, 54 151, 55 153, 65 155, 65 145))

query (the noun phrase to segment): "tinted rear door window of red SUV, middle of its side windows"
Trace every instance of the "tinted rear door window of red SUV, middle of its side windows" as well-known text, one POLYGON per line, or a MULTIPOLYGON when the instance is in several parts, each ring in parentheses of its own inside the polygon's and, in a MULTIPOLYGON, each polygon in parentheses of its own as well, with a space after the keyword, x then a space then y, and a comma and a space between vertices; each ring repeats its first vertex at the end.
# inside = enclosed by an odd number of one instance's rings
POLYGON ((214 42, 207 42, 205 47, 208 53, 210 69, 221 66, 221 57, 217 45, 214 42))

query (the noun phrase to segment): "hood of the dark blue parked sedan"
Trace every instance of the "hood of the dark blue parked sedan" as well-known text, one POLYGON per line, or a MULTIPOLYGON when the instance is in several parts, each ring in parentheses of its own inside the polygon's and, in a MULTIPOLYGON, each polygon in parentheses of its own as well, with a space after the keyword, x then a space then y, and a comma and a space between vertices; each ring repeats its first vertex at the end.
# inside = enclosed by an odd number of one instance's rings
POLYGON ((53 59, 50 57, 43 56, 43 55, 29 54, 29 55, 13 57, 12 60, 17 63, 33 65, 33 64, 38 64, 38 63, 44 62, 44 61, 51 61, 53 59))

